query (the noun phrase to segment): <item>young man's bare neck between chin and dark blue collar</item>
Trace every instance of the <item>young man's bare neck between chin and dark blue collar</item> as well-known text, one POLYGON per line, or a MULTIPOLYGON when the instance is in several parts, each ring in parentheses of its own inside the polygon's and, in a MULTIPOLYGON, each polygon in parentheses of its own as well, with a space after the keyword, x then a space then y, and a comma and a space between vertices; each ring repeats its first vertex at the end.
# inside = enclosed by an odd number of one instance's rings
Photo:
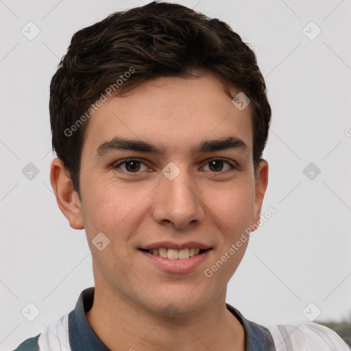
POLYGON ((111 351, 244 351, 243 326, 226 308, 225 298, 223 291, 202 311, 165 317, 109 289, 95 288, 86 318, 111 351))

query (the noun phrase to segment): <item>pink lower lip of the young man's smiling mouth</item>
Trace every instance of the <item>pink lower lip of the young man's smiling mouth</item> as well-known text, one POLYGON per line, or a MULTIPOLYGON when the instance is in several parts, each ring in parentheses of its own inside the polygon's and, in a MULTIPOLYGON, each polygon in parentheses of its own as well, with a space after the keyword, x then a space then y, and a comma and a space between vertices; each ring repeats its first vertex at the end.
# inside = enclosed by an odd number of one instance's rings
POLYGON ((169 258, 163 258, 140 250, 147 260, 168 273, 186 273, 192 271, 206 260, 210 251, 211 250, 204 251, 201 254, 186 258, 186 260, 170 260, 169 258))

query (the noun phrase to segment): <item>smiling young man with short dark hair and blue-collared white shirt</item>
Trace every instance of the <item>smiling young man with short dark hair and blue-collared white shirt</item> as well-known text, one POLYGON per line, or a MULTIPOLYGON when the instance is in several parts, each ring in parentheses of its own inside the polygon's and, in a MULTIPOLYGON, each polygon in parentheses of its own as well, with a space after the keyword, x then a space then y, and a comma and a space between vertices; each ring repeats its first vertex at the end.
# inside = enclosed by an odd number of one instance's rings
POLYGON ((218 19, 150 3, 77 32, 51 81, 51 185, 95 287, 20 350, 349 350, 314 323, 226 304, 260 220, 271 108, 218 19))

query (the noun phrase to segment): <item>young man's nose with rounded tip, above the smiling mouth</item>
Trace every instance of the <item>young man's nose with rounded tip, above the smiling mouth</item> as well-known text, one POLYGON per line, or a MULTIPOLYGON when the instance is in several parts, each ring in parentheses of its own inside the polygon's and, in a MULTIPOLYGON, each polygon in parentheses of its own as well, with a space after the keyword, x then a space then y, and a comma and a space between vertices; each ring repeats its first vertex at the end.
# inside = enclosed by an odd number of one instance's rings
POLYGON ((186 229, 204 221, 202 191, 186 169, 170 180, 161 175, 160 184, 154 193, 152 217, 157 223, 186 229))

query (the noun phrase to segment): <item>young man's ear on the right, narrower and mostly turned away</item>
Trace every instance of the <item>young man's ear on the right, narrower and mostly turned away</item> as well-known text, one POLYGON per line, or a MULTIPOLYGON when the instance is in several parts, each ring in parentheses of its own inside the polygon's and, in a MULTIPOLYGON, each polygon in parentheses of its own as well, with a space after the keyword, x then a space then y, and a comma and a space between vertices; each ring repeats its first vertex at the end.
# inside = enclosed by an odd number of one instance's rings
POLYGON ((268 184, 268 162, 261 160, 255 174, 255 203, 251 225, 256 228, 261 216, 261 207, 268 184))

